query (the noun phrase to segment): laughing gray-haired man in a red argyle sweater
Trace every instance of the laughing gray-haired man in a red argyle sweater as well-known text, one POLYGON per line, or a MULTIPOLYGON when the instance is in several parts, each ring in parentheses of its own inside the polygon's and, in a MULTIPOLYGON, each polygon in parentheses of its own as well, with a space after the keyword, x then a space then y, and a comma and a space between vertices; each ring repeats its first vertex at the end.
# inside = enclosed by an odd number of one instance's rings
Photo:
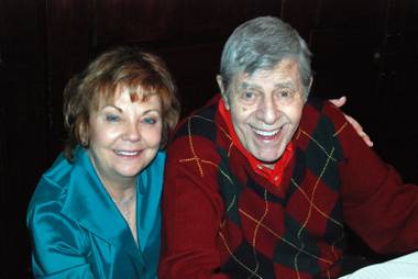
POLYGON ((308 100, 310 52, 293 27, 243 23, 217 80, 221 96, 168 147, 161 278, 336 278, 345 224, 378 253, 418 248, 418 187, 308 100))

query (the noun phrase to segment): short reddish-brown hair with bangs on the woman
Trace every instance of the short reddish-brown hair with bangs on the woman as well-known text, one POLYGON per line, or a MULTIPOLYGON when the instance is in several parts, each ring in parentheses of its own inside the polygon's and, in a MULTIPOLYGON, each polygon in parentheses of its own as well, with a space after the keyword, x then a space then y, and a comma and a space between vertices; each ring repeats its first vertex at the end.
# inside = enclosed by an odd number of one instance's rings
POLYGON ((165 63, 136 47, 118 47, 99 55, 87 68, 72 78, 64 90, 64 124, 68 132, 64 153, 73 158, 76 145, 88 146, 88 123, 91 110, 100 100, 113 101, 117 88, 145 99, 157 94, 162 101, 163 134, 161 148, 168 142, 176 125, 180 104, 176 86, 165 63))

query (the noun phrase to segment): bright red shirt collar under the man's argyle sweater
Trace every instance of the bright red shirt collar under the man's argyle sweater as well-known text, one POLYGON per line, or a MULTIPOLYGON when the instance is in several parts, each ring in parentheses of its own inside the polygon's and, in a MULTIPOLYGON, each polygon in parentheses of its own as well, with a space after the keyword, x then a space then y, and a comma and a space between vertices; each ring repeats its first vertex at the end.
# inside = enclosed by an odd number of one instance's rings
POLYGON ((254 170, 254 172, 264 177, 274 186, 279 186, 282 182, 284 169, 287 166, 287 164, 290 161, 292 156, 294 154, 293 142, 290 142, 287 145, 286 150, 283 154, 282 158, 274 165, 274 168, 271 169, 271 168, 264 166, 262 161, 260 161, 254 156, 252 156, 251 153, 249 153, 244 148, 244 146, 242 146, 242 144, 241 144, 241 142, 240 142, 240 140, 235 133, 235 130, 233 129, 231 113, 227 110, 224 102, 223 102, 223 99, 220 99, 220 101, 219 101, 218 111, 227 124, 227 127, 228 127, 228 131, 231 135, 233 145, 244 155, 244 157, 250 163, 250 166, 254 170))

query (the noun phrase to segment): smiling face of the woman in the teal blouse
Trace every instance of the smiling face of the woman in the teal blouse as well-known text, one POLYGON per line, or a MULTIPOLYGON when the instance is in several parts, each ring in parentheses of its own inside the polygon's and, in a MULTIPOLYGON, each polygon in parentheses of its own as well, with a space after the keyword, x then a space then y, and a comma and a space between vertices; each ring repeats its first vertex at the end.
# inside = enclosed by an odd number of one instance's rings
POLYGON ((113 183, 136 177, 156 156, 162 127, 158 96, 142 100, 118 87, 114 102, 100 102, 89 119, 89 155, 101 179, 113 183))

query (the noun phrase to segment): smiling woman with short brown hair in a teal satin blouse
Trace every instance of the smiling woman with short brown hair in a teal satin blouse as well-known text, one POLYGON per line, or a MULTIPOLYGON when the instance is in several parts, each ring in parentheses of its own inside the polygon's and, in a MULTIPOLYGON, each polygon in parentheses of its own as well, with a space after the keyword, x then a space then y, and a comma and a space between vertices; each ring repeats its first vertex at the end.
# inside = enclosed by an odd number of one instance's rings
POLYGON ((64 92, 68 140, 28 226, 42 278, 156 278, 160 198, 179 102, 164 63, 135 48, 96 58, 64 92))

